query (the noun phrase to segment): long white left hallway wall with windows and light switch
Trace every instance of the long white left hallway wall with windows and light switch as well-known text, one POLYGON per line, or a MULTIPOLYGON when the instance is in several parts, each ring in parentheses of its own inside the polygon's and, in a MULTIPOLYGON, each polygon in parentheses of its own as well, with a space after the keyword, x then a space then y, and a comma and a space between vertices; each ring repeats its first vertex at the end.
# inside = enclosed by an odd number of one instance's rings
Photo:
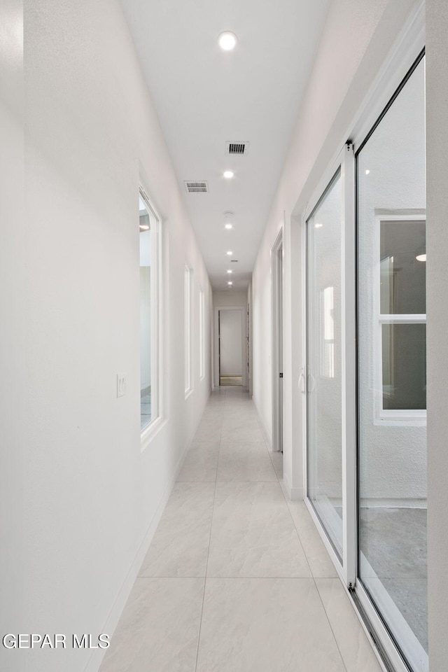
MULTIPOLYGON (((200 287, 210 332, 211 288, 118 1, 25 3, 25 189, 22 21, 20 6, 3 8, 2 37, 12 30, 0 41, 2 627, 111 633, 210 390, 195 337, 188 400, 179 384, 184 264, 195 271, 195 334, 200 287), (162 216, 165 268, 167 422, 144 451, 140 176, 162 216), (117 372, 127 377, 121 398, 117 372)), ((1 647, 0 667, 80 672, 90 653, 1 647)))

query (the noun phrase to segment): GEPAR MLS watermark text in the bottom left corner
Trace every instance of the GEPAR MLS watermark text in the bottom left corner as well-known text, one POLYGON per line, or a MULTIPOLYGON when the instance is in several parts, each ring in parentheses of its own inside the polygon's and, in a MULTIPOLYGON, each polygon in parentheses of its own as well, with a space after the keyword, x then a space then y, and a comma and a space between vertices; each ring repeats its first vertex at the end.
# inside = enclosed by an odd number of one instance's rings
POLYGON ((105 633, 98 636, 90 633, 82 635, 8 633, 3 635, 2 643, 6 649, 107 649, 111 644, 109 635, 105 633))

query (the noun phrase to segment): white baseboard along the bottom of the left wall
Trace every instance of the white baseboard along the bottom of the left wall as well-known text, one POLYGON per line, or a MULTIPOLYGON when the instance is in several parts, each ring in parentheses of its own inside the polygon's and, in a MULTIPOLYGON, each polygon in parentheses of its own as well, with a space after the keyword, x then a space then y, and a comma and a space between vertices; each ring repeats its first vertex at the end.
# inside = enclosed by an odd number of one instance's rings
MULTIPOLYGON (((208 398, 207 398, 208 401, 208 398)), ((206 402, 207 405, 207 402, 206 402)), ((205 405, 204 405, 205 409, 205 405)), ((201 415, 202 418, 202 415, 201 415)), ((199 419, 197 423, 197 427, 199 426, 199 423, 201 421, 201 418, 199 419)), ((137 576, 139 574, 139 569, 141 568, 141 563, 144 561, 144 557, 146 556, 146 553, 148 552, 148 548, 151 544, 151 541, 153 540, 153 537, 155 535, 155 531, 157 529, 157 526, 160 522, 160 518, 162 517, 163 512, 165 511, 165 506, 167 505, 167 501, 169 500, 169 496, 172 493, 172 490, 174 488, 174 484, 176 483, 177 477, 179 476, 179 472, 181 471, 181 468, 183 466, 183 462, 185 461, 186 454, 188 453, 188 449, 190 449, 190 444, 193 440, 193 437, 196 433, 197 427, 195 431, 193 432, 193 436, 191 437, 190 441, 186 444, 185 449, 183 450, 183 453, 181 454, 181 457, 179 458, 179 461, 176 465, 176 470, 174 471, 174 475, 172 476, 172 479, 170 480, 169 484, 165 488, 164 493, 162 494, 162 497, 160 498, 160 502, 158 503, 158 507, 155 510, 155 514, 153 515, 153 519, 151 520, 151 523, 149 524, 148 529, 146 530, 146 534, 144 535, 144 539, 141 542, 141 545, 137 551, 137 554, 132 561, 132 564, 130 566, 129 571, 127 572, 127 575, 125 577, 125 580, 123 582, 122 587, 120 588, 120 591, 118 591, 118 595, 116 596, 116 599, 112 605, 111 612, 109 613, 109 617, 106 619, 106 623, 104 624, 103 629, 101 632, 106 632, 109 634, 111 637, 113 635, 113 632, 116 629, 116 626, 118 625, 118 621, 120 620, 120 616, 123 612, 123 609, 125 608, 125 604, 127 602, 127 598, 130 596, 130 592, 132 590, 132 587, 134 586, 135 580, 137 579, 137 576)), ((97 649, 93 650, 90 658, 87 661, 87 665, 85 666, 85 671, 84 672, 98 672, 99 666, 102 664, 102 659, 104 657, 104 654, 106 653, 106 649, 97 649)))

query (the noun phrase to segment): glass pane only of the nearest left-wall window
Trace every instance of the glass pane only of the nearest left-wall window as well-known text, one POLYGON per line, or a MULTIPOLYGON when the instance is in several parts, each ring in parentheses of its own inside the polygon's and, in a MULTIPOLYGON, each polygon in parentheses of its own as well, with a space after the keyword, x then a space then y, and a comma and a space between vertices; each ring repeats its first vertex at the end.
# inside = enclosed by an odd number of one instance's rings
POLYGON ((140 199, 140 426, 151 422, 151 219, 140 199))

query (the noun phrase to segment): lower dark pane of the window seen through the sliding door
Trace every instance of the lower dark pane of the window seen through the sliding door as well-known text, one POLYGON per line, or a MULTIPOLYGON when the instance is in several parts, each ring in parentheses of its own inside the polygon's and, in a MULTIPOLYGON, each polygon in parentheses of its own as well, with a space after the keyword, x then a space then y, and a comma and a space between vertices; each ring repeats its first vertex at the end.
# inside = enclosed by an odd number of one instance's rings
POLYGON ((383 408, 426 408, 426 325, 383 324, 383 408))

